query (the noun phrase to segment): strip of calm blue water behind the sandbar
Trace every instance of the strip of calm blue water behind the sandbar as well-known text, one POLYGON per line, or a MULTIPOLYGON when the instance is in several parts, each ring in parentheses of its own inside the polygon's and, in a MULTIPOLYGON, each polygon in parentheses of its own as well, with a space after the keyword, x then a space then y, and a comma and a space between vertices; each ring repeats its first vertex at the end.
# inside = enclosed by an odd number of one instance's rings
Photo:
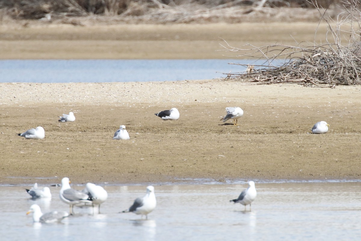
POLYGON ((244 72, 238 59, 206 60, 0 60, 0 82, 148 82, 214 79, 244 72))

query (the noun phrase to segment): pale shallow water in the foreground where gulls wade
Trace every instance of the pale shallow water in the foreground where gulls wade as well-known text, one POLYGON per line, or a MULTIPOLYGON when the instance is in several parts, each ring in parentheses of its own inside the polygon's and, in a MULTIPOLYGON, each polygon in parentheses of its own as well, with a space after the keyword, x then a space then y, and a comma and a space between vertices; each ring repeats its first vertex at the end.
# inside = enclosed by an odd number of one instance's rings
MULTIPOLYGON (((1 240, 360 240, 360 182, 256 183, 252 211, 230 203, 245 184, 154 185, 157 208, 141 220, 118 213, 144 186, 104 186, 101 214, 74 207, 74 216, 55 224, 33 224, 25 213, 69 207, 51 187, 50 202, 32 201, 25 186, 1 186, 1 240), (3 239, 6 237, 5 239, 3 239)), ((30 188, 30 187, 29 187, 30 188)), ((73 186, 81 190, 81 186, 73 186)))

